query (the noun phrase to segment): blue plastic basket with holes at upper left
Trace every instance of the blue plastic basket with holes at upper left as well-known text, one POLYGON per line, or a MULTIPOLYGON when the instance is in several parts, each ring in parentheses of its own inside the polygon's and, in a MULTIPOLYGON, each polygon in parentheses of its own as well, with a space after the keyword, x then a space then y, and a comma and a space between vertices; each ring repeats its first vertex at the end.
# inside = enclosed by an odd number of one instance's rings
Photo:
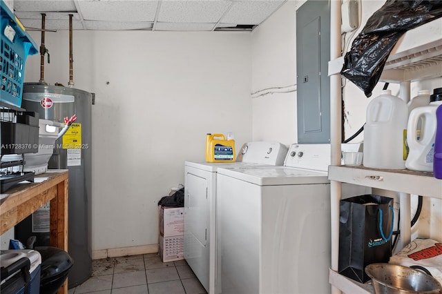
POLYGON ((6 3, 1 3, 0 101, 21 107, 25 63, 38 48, 6 3))

